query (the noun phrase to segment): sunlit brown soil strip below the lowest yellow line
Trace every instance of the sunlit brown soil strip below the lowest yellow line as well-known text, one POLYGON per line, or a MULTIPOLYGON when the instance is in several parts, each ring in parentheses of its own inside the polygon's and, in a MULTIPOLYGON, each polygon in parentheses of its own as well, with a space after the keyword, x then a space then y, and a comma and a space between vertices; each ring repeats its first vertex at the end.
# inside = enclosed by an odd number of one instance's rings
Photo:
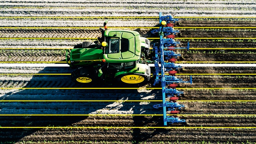
MULTIPOLYGON (((19 131, 16 133, 20 133, 19 131)), ((67 135, 71 135, 75 138, 74 142, 83 141, 84 139, 87 142, 93 143, 103 143, 100 139, 104 138, 104 142, 125 142, 131 143, 129 141, 136 141, 136 143, 144 142, 147 143, 156 143, 161 141, 166 142, 202 142, 211 141, 211 142, 248 142, 253 141, 255 136, 253 135, 254 130, 235 130, 235 129, 208 129, 208 130, 181 130, 181 129, 39 129, 35 131, 35 135, 29 135, 22 140, 53 140, 53 141, 69 141, 70 137, 67 135), (100 135, 99 135, 100 133, 100 135), (173 135, 173 133, 180 135, 173 135), (209 135, 212 133, 212 135, 209 135), (245 134, 247 133, 247 134, 245 134), (47 136, 51 135, 52 139, 49 139, 47 136), (56 137, 59 135, 59 137, 56 137), (219 137, 221 139, 216 139, 219 137)), ((15 137, 16 138, 16 137, 15 137)))

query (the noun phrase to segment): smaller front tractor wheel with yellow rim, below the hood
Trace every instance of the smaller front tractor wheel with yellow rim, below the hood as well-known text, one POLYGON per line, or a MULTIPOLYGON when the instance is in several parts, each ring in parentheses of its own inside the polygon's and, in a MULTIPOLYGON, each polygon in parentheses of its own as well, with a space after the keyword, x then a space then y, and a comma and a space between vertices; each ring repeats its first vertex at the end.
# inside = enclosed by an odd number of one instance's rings
POLYGON ((92 68, 74 70, 71 74, 71 80, 88 86, 94 86, 97 83, 97 77, 95 77, 95 71, 92 68))

